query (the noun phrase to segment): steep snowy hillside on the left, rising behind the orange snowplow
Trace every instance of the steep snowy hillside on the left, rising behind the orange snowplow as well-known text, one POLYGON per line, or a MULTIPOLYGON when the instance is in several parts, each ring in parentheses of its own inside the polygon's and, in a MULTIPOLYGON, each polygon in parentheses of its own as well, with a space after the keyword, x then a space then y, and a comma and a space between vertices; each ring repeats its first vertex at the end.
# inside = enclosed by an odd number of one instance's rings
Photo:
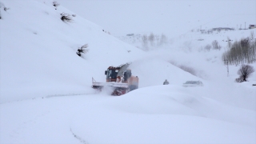
POLYGON ((74 13, 62 6, 54 10, 50 1, 3 3, 10 10, 2 10, 1 102, 14 100, 16 94, 31 98, 85 93, 92 76, 142 55, 79 16, 72 23, 62 22, 62 12, 74 13), (76 50, 86 43, 90 51, 79 58, 76 50))

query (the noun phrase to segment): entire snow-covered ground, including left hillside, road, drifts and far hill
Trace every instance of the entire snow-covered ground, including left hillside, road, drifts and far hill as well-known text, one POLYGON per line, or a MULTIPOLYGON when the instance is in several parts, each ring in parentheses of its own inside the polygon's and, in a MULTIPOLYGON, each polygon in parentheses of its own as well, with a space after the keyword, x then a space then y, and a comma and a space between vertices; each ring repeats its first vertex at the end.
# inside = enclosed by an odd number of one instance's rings
POLYGON ((222 62, 222 39, 256 29, 189 33, 143 51, 78 14, 62 22, 74 12, 50 0, 2 0, 0 9, 0 143, 256 143, 256 74, 236 83, 239 66, 227 77, 222 62), (201 50, 214 40, 222 50, 201 50), (92 77, 104 82, 108 66, 126 62, 138 90, 91 89, 92 77), (189 80, 204 86, 183 87, 189 80))

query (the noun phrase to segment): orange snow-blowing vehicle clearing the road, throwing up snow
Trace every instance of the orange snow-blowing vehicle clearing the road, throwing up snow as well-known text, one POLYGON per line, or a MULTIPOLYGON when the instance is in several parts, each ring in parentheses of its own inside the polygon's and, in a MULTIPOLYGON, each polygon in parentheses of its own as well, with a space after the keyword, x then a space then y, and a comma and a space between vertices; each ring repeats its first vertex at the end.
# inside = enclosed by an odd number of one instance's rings
POLYGON ((112 87, 111 95, 122 95, 131 90, 138 89, 138 76, 133 76, 131 70, 128 69, 130 64, 122 64, 114 67, 109 66, 105 71, 106 82, 96 82, 92 78, 92 88, 101 91, 104 86, 112 87))

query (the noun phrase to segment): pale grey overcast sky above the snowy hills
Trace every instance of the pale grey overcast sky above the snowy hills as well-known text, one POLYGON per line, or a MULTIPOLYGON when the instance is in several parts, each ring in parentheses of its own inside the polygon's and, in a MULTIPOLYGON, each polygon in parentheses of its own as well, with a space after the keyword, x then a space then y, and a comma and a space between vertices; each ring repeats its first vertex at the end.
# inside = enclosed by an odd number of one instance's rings
POLYGON ((58 0, 111 34, 184 34, 194 28, 256 24, 255 0, 58 0))

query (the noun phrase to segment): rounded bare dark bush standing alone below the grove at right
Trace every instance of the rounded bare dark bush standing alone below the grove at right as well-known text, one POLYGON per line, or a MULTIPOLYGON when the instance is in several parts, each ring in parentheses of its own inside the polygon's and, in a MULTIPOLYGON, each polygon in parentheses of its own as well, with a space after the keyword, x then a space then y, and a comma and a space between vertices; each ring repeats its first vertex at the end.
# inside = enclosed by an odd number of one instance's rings
POLYGON ((244 65, 240 67, 238 70, 239 78, 241 82, 246 82, 246 79, 250 77, 250 75, 254 72, 254 67, 250 65, 244 65))

